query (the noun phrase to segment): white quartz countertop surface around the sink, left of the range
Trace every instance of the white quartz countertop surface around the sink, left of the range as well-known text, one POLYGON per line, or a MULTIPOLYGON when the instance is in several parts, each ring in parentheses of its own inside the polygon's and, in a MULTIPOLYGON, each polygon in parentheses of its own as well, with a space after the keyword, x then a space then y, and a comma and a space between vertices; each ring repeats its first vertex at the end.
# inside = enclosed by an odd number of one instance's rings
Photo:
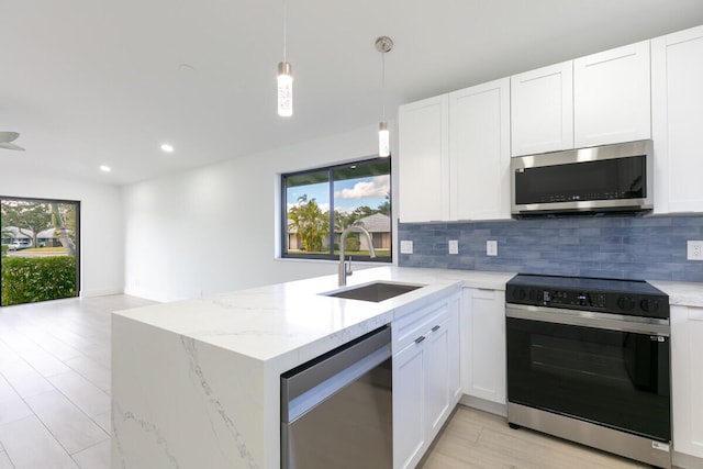
POLYGON ((288 356, 284 361, 290 365, 388 324, 453 289, 503 290, 511 277, 389 266, 355 271, 347 288, 375 280, 425 287, 378 303, 345 300, 320 294, 339 289, 332 275, 115 314, 261 361, 288 356))

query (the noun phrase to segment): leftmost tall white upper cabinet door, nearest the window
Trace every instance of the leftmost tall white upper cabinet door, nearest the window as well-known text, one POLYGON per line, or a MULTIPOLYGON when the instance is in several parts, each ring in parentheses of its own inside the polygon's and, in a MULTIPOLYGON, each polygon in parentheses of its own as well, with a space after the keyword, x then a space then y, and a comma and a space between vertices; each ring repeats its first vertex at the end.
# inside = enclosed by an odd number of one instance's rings
POLYGON ((443 94, 399 109, 401 222, 449 219, 449 111, 443 94))

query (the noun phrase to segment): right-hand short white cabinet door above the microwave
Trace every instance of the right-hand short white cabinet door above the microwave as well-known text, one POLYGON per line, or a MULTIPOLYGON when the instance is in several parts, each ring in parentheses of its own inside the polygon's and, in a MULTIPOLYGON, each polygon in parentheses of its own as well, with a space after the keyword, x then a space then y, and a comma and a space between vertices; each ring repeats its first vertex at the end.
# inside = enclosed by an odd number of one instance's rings
POLYGON ((573 60, 577 148, 651 138, 649 41, 573 60))

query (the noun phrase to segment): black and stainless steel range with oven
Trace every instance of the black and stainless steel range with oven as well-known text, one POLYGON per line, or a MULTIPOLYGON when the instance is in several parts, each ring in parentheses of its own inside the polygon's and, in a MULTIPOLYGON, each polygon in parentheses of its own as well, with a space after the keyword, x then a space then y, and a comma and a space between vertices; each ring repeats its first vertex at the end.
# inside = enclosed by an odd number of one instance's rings
POLYGON ((671 467, 669 298, 644 281, 507 282, 507 421, 671 467))

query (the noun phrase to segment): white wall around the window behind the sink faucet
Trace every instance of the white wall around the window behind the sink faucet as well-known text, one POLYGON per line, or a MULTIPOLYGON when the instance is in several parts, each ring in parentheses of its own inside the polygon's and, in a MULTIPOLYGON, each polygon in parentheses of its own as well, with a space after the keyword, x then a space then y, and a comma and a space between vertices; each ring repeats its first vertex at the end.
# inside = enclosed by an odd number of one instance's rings
POLYGON ((170 301, 336 273, 331 260, 276 259, 280 174, 377 155, 376 132, 372 125, 124 187, 125 292, 170 301))

